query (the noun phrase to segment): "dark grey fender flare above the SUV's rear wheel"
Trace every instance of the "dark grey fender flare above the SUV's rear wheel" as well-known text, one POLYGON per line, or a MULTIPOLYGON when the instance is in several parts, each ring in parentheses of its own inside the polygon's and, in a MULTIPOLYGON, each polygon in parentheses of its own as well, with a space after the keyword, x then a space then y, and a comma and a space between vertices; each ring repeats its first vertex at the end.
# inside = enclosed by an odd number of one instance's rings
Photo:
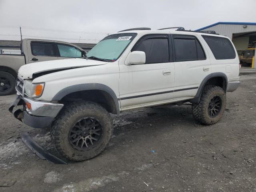
MULTIPOLYGON (((213 78, 213 77, 222 77, 226 80, 226 88, 227 88, 227 84, 228 84, 228 77, 226 76, 226 74, 222 73, 222 72, 216 72, 216 73, 211 73, 211 74, 208 74, 201 82, 197 92, 196 92, 196 96, 190 100, 191 103, 199 103, 200 101, 200 97, 201 97, 201 94, 202 94, 202 90, 206 84, 206 82, 210 79, 210 78, 213 78)), ((226 88, 225 88, 225 92, 226 92, 226 88)))

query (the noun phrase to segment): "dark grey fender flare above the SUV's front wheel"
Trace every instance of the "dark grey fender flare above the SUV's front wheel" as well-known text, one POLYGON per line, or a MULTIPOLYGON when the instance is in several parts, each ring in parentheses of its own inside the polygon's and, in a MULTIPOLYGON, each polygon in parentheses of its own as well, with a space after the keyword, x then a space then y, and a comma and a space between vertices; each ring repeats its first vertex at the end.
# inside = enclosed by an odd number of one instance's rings
POLYGON ((119 104, 118 104, 118 99, 116 97, 116 94, 110 87, 108 87, 104 84, 84 83, 84 84, 68 86, 68 87, 60 90, 58 93, 56 93, 55 96, 52 98, 52 101, 59 101, 64 96, 66 96, 70 93, 74 93, 74 92, 78 92, 78 91, 85 91, 85 90, 101 90, 101 91, 104 91, 104 92, 107 92, 108 94, 110 94, 110 96, 114 100, 114 103, 116 106, 116 113, 119 115, 120 109, 119 109, 119 104))

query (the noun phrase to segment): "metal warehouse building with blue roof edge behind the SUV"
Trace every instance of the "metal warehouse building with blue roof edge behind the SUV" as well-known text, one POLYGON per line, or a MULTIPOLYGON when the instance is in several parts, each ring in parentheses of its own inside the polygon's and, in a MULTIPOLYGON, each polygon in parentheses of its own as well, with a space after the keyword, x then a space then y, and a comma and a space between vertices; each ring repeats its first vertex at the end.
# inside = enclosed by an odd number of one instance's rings
POLYGON ((255 54, 256 45, 256 23, 218 22, 196 31, 215 31, 220 35, 229 37, 238 51, 240 60, 242 61, 244 57, 251 57, 251 59, 247 59, 247 65, 249 66, 249 62, 252 62, 252 55, 255 54), (248 51, 245 52, 248 49, 250 50, 250 55, 248 51))

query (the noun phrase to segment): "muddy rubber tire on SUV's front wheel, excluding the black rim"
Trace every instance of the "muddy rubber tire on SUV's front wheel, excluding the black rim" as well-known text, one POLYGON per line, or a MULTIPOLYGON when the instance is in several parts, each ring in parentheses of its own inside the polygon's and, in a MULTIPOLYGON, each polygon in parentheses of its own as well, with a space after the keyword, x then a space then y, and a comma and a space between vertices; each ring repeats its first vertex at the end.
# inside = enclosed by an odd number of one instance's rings
POLYGON ((106 148, 113 134, 113 121, 105 108, 90 101, 78 101, 64 106, 56 120, 52 124, 51 137, 54 148, 61 156, 73 160, 82 161, 93 158, 106 148), (78 151, 69 142, 69 131, 79 119, 84 117, 97 118, 102 124, 102 138, 94 148, 78 151))

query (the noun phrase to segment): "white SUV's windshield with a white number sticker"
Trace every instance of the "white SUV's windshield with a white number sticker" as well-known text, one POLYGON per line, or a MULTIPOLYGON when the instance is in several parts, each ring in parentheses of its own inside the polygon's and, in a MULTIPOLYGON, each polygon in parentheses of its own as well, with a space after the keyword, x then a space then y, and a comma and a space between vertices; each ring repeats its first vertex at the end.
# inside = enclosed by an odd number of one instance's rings
POLYGON ((136 33, 114 34, 98 42, 87 54, 87 58, 115 61, 132 42, 136 33))

